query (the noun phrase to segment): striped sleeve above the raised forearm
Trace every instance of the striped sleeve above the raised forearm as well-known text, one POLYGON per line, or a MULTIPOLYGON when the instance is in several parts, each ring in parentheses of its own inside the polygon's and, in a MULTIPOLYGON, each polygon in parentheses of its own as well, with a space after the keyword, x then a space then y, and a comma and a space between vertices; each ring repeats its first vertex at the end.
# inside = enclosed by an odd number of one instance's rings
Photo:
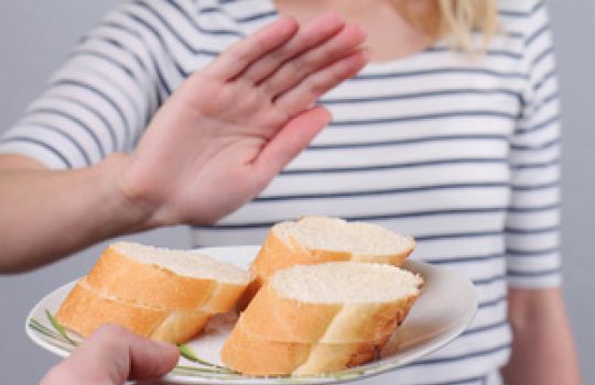
POLYGON ((133 148, 166 97, 162 73, 172 67, 145 19, 141 8, 122 2, 98 22, 2 135, 0 153, 65 169, 133 148))

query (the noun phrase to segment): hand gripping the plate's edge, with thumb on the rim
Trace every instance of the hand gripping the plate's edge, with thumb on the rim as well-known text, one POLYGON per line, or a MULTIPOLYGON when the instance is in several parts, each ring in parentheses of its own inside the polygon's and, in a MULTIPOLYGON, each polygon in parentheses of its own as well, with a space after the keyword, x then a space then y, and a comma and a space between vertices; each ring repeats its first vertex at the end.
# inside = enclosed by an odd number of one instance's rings
POLYGON ((52 369, 42 385, 121 385, 127 380, 159 378, 177 359, 178 350, 172 344, 147 340, 119 326, 105 326, 52 369))

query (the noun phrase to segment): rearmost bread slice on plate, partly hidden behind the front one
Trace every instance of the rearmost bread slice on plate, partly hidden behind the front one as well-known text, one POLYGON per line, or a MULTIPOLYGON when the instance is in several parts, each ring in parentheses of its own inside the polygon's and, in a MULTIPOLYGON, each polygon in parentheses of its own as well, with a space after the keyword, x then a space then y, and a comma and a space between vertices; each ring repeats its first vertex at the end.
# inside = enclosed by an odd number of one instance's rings
POLYGON ((377 224, 338 218, 303 217, 271 228, 250 270, 256 279, 246 289, 244 309, 274 272, 293 265, 356 261, 400 266, 415 241, 377 224))

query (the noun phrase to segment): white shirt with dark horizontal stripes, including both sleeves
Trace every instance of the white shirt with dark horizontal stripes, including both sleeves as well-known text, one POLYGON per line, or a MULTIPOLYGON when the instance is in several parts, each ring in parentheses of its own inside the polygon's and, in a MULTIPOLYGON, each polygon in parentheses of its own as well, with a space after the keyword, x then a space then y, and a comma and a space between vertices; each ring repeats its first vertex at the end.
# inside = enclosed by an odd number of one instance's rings
MULTIPOLYGON (((194 70, 274 20, 271 0, 134 0, 75 47, 1 153, 51 168, 131 151, 194 70)), ((445 42, 368 65, 321 99, 334 119, 252 202, 196 245, 255 244, 278 221, 327 215, 418 240, 413 257, 467 274, 479 310, 457 340, 378 383, 480 384, 506 363, 507 289, 560 284, 560 112, 548 12, 499 3, 486 55, 445 42)))

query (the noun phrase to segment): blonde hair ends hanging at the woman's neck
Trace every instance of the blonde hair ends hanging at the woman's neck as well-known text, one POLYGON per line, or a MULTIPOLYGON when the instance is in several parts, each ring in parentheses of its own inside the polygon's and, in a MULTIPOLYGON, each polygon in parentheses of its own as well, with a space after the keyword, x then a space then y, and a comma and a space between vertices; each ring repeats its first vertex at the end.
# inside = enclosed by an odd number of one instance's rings
POLYGON ((473 32, 483 33, 482 50, 487 48, 498 30, 497 0, 416 0, 396 1, 399 11, 425 34, 439 38, 451 36, 454 46, 475 51, 473 32), (423 3, 423 4, 422 4, 423 3), (422 4, 422 6, 420 6, 422 4))

